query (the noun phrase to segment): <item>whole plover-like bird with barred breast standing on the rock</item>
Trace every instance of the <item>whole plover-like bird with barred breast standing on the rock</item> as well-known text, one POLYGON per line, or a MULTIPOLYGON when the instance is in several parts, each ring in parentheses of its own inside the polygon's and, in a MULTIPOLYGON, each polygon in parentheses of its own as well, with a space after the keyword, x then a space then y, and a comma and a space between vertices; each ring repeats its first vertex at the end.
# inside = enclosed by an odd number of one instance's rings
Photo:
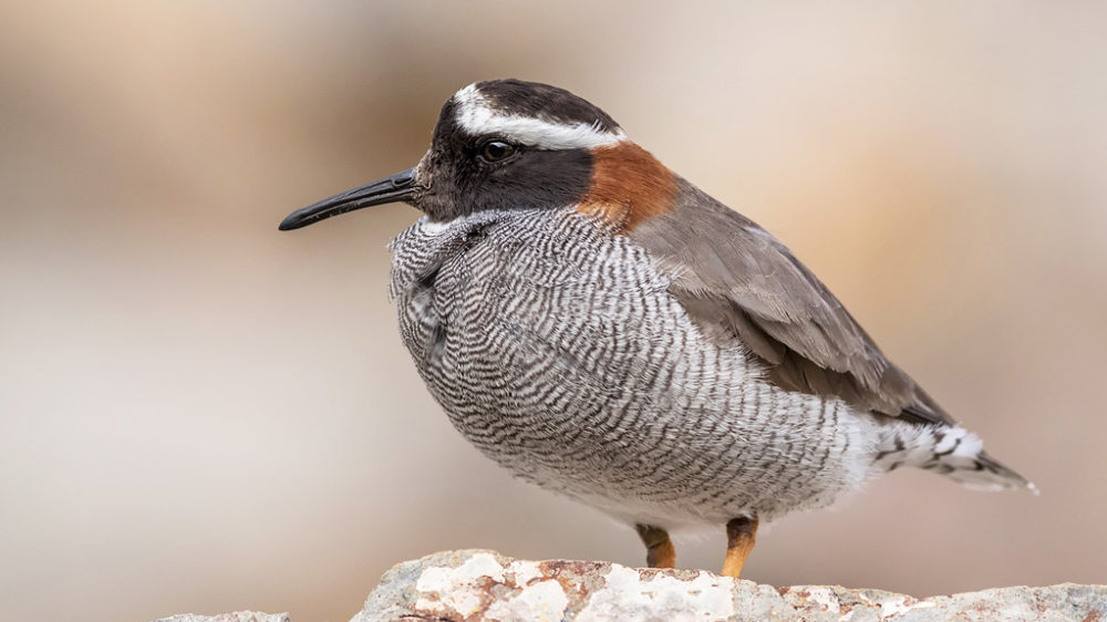
POLYGON ((422 211, 390 245, 402 341, 454 427, 524 480, 632 527, 725 529, 739 577, 762 521, 900 467, 1031 489, 892 363, 795 255, 669 169, 606 112, 476 82, 406 170, 290 214, 422 211))

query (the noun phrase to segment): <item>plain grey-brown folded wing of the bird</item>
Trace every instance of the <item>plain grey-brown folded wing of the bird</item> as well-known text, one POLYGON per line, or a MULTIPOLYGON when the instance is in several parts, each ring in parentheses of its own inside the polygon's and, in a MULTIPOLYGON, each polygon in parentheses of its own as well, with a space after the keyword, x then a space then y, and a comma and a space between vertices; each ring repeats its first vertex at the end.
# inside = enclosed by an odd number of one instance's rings
POLYGON ((679 186, 675 208, 629 236, 673 269, 670 293, 694 322, 739 339, 785 388, 889 416, 953 423, 784 245, 687 182, 679 186))

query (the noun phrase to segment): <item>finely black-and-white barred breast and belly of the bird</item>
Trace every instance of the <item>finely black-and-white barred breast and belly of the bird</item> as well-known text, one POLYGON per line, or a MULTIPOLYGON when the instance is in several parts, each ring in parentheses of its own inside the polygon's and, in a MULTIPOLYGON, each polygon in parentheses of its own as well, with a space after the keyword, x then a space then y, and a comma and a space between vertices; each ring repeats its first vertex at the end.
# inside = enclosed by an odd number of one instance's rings
POLYGON ((825 505, 867 475, 837 401, 762 382, 630 240, 572 211, 421 219, 392 245, 416 367, 454 426, 516 475, 655 525, 825 505))

